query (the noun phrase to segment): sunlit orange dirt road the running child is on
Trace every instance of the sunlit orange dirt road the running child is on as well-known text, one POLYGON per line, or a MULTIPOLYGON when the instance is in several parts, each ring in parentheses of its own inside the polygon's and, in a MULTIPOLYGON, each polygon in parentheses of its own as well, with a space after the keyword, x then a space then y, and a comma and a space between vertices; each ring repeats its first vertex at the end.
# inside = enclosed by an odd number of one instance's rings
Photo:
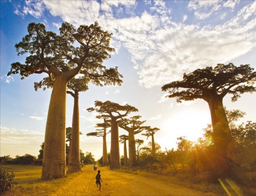
POLYGON ((207 196, 212 193, 202 193, 187 189, 166 181, 147 178, 140 175, 109 170, 101 170, 101 190, 96 186, 96 171, 93 165, 82 168, 81 174, 67 186, 56 189, 53 196, 207 196))

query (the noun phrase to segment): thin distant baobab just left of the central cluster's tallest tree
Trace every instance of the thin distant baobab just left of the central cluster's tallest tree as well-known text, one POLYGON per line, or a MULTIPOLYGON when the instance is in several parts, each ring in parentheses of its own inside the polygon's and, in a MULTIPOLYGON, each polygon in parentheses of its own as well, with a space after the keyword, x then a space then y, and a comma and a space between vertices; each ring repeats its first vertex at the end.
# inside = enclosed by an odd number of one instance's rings
POLYGON ((110 131, 107 132, 107 129, 111 127, 111 124, 108 122, 98 123, 96 124, 96 127, 98 129, 96 129, 95 132, 90 132, 86 135, 103 138, 102 165, 105 166, 105 165, 108 165, 107 134, 110 133, 110 131))

